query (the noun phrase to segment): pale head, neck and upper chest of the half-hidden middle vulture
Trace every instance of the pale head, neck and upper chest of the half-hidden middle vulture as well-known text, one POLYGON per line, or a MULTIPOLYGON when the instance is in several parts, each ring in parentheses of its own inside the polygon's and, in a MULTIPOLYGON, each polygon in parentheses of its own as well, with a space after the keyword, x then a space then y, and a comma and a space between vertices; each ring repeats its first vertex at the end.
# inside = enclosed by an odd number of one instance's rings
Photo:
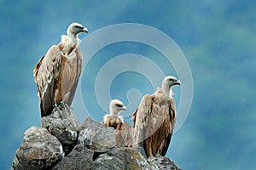
POLYGON ((119 116, 119 112, 126 111, 125 105, 120 100, 113 99, 109 104, 109 111, 110 113, 103 117, 102 124, 119 129, 122 123, 124 123, 124 118, 123 116, 119 116))

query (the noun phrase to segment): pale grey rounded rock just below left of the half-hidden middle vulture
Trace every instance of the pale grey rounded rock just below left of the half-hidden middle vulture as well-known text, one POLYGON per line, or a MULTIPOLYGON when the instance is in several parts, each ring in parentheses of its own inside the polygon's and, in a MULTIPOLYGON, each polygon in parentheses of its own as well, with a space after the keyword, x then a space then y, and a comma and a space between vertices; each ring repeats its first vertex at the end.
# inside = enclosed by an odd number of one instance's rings
POLYGON ((115 130, 88 117, 82 123, 79 143, 97 152, 112 150, 116 146, 115 130))

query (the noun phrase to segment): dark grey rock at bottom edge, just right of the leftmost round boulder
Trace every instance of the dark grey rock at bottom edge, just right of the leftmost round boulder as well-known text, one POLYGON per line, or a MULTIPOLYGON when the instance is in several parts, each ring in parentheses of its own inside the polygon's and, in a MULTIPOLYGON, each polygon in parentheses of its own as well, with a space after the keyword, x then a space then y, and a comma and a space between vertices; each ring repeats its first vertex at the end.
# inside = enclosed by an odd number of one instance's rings
POLYGON ((85 148, 81 144, 76 145, 76 147, 66 156, 62 161, 60 161, 53 170, 75 170, 75 169, 93 169, 93 155, 94 151, 85 148))

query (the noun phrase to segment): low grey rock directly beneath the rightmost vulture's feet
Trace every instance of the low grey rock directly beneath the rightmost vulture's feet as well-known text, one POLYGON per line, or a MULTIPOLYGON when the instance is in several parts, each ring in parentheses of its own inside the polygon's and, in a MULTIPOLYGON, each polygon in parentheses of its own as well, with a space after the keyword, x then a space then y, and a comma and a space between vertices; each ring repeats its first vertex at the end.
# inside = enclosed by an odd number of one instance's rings
POLYGON ((172 169, 172 170, 180 170, 180 167, 169 158, 165 156, 154 156, 148 158, 148 164, 151 169, 172 169))

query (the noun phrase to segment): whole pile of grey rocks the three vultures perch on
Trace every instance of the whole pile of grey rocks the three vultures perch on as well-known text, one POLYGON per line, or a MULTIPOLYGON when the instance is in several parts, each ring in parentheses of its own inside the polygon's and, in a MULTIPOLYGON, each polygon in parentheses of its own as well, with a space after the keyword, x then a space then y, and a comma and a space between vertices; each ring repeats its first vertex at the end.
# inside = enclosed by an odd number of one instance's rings
POLYGON ((41 125, 26 130, 12 169, 180 169, 168 157, 147 158, 143 148, 118 147, 116 139, 131 144, 126 134, 118 132, 117 138, 113 127, 90 117, 80 126, 67 105, 56 107, 41 125))

